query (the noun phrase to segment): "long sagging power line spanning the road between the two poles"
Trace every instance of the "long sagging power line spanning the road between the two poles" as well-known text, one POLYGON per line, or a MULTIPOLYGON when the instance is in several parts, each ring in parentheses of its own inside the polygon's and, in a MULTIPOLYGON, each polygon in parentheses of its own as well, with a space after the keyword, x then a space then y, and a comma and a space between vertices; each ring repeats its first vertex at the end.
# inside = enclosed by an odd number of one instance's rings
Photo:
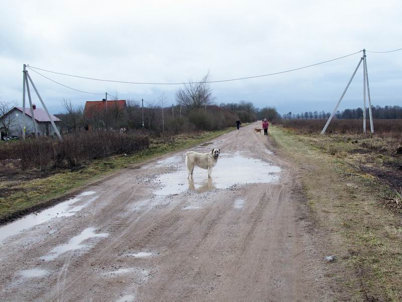
MULTIPOLYGON (((357 52, 351 53, 351 54, 347 54, 341 57, 337 57, 334 59, 330 59, 330 60, 326 60, 323 62, 319 62, 319 63, 315 63, 315 64, 311 64, 311 65, 307 65, 307 66, 302 66, 302 67, 297 67, 297 68, 292 68, 292 69, 288 69, 288 70, 284 70, 284 71, 279 71, 279 72, 273 72, 273 73, 267 73, 267 74, 260 74, 260 75, 253 75, 251 77, 244 77, 244 78, 235 78, 235 79, 227 79, 227 80, 219 80, 219 81, 207 81, 205 83, 222 83, 222 82, 232 82, 232 81, 240 81, 240 80, 247 80, 247 79, 255 79, 255 78, 262 78, 262 77, 268 77, 269 75, 275 75, 275 74, 281 74, 281 73, 286 73, 286 72, 290 72, 290 71, 295 71, 295 70, 300 70, 300 69, 304 69, 304 68, 308 68, 308 67, 312 67, 312 66, 317 66, 320 64, 324 64, 324 63, 328 63, 331 61, 335 61, 335 60, 339 60, 339 59, 343 59, 352 55, 355 55, 359 52, 362 52, 362 50, 359 50, 357 52)), ((28 66, 27 66, 28 67, 28 66)), ((68 73, 62 73, 62 72, 57 72, 57 71, 52 71, 52 70, 47 70, 47 69, 42 69, 39 67, 34 67, 34 66, 29 66, 29 68, 35 68, 38 70, 42 70, 42 71, 46 71, 46 72, 51 72, 51 73, 56 73, 56 74, 61 74, 61 75, 67 75, 68 77, 74 77, 74 78, 80 78, 80 79, 86 79, 86 80, 93 80, 93 81, 101 81, 101 82, 113 82, 113 83, 123 83, 123 84, 141 84, 141 85, 183 85, 183 84, 197 84, 200 82, 187 82, 187 83, 154 83, 154 82, 129 82, 129 81, 116 81, 116 80, 105 80, 105 79, 96 79, 96 78, 89 78, 89 77, 82 77, 80 75, 75 75, 75 74, 68 74, 68 73)), ((32 69, 31 69, 32 70, 32 69)), ((47 78, 48 79, 48 78, 47 78)), ((49 79, 50 80, 50 79, 49 79)), ((53 81, 53 80, 52 80, 53 81)), ((53 81, 55 82, 55 81, 53 81)), ((58 83, 59 84, 59 83, 58 83)), ((64 85, 63 85, 64 86, 64 85)))

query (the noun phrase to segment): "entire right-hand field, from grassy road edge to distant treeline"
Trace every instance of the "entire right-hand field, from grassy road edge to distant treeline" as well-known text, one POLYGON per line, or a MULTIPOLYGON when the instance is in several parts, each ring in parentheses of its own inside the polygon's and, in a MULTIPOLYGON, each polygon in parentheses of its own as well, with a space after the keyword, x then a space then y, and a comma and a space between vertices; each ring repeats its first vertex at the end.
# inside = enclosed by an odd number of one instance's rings
POLYGON ((337 255, 327 272, 343 288, 336 300, 400 301, 400 121, 375 121, 374 135, 358 133, 356 122, 336 121, 320 135, 323 121, 284 121, 271 137, 299 167, 316 228, 326 234, 320 245, 337 255))

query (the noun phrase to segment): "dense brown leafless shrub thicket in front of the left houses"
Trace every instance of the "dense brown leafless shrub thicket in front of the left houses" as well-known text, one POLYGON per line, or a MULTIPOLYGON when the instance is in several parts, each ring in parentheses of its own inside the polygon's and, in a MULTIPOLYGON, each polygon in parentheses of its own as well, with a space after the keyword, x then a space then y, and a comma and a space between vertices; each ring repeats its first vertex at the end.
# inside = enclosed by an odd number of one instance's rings
POLYGON ((111 155, 133 154, 148 147, 149 137, 141 132, 81 132, 65 135, 63 141, 41 137, 3 144, 0 160, 18 160, 23 170, 72 168, 111 155))

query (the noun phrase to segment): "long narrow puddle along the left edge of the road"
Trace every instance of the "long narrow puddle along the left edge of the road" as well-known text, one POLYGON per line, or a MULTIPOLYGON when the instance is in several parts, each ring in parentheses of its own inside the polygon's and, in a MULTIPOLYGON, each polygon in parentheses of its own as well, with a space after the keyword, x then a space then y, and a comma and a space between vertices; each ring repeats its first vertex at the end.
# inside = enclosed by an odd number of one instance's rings
POLYGON ((30 229, 35 225, 47 222, 47 221, 51 220, 52 218, 68 217, 68 216, 75 215, 78 211, 82 210, 84 207, 89 205, 92 201, 96 200, 98 198, 98 196, 94 196, 94 197, 88 199, 88 201, 82 205, 78 205, 75 207, 72 207, 72 205, 74 203, 80 201, 81 197, 92 195, 94 193, 96 193, 96 192, 94 192, 94 191, 83 192, 83 193, 77 195, 77 197, 75 197, 75 198, 72 198, 67 201, 56 204, 55 206, 52 206, 51 208, 43 210, 42 212, 29 214, 29 215, 25 216, 24 218, 18 219, 12 223, 2 226, 0 228, 0 242, 2 242, 7 237, 17 235, 21 231, 30 229))

